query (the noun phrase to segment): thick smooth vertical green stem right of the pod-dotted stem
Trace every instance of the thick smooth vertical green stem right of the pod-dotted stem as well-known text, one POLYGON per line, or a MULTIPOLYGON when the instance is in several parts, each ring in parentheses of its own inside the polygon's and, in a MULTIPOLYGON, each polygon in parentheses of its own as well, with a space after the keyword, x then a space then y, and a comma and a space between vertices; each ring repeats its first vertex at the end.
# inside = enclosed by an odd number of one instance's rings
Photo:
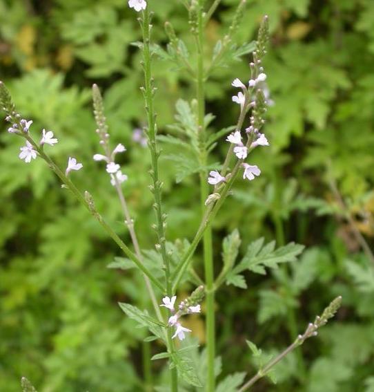
MULTIPOLYGON (((205 118, 205 91, 204 91, 204 8, 203 0, 199 0, 197 15, 197 106, 198 106, 198 129, 200 165, 205 167, 207 163, 206 153, 206 130, 205 118)), ((201 214, 204 216, 206 209, 205 201, 209 194, 207 183, 207 171, 200 172, 200 198, 201 214)), ((212 228, 207 227, 203 238, 204 245, 204 272, 206 286, 206 351, 207 351, 207 375, 206 391, 215 391, 215 291, 214 291, 214 269, 213 269, 213 240, 212 228)))

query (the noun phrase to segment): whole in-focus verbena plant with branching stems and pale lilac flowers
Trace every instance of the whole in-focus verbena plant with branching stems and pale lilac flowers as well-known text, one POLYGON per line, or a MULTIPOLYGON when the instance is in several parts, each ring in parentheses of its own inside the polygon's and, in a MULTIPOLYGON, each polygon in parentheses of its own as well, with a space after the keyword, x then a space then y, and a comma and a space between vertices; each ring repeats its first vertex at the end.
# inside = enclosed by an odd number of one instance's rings
MULTIPOLYGON (((217 41, 210 62, 206 62, 204 45, 204 30, 210 17, 212 17, 219 0, 213 1, 206 8, 204 0, 184 0, 190 32, 195 41, 195 54, 191 54, 175 33, 173 25, 167 22, 165 25, 169 43, 166 48, 161 48, 151 41, 151 18, 152 13, 149 4, 145 0, 129 0, 128 5, 135 12, 139 12, 139 22, 143 33, 143 41, 135 45, 141 50, 143 60, 141 66, 144 69, 144 86, 141 88, 144 94, 145 109, 148 125, 144 131, 146 144, 150 152, 151 168, 150 192, 154 195, 153 208, 155 209, 155 224, 152 228, 156 233, 155 254, 152 263, 146 257, 144 250, 137 239, 135 222, 130 216, 128 204, 122 191, 122 186, 128 180, 126 174, 121 171, 116 163, 118 153, 124 153, 126 148, 123 144, 117 144, 115 148, 110 146, 110 130, 104 114, 104 105, 99 87, 92 86, 93 106, 95 120, 97 122, 97 135, 102 148, 101 153, 95 154, 93 159, 104 162, 109 180, 117 196, 124 215, 124 223, 128 227, 132 246, 126 245, 117 235, 115 230, 101 216, 95 201, 88 191, 81 190, 73 183, 73 171, 84 170, 83 164, 77 158, 68 157, 66 169, 61 167, 50 158, 48 149, 55 147, 59 140, 52 131, 43 129, 41 136, 32 136, 32 120, 26 120, 17 112, 10 93, 6 86, 0 82, 0 104, 6 113, 6 121, 10 123, 8 131, 14 136, 26 140, 26 145, 21 147, 19 158, 26 163, 35 159, 43 159, 48 166, 60 178, 62 187, 68 189, 83 204, 88 212, 97 220, 108 236, 117 243, 124 252, 126 258, 117 259, 111 265, 112 268, 126 270, 135 265, 144 277, 144 284, 149 295, 149 310, 141 310, 131 304, 120 303, 119 306, 131 319, 135 319, 139 326, 148 328, 150 336, 145 343, 153 341, 162 342, 165 350, 151 357, 150 351, 144 351, 144 369, 146 380, 145 389, 178 391, 204 388, 208 392, 213 391, 246 391, 257 380, 264 376, 271 377, 271 370, 283 357, 304 343, 309 337, 317 335, 319 327, 326 324, 328 319, 335 315, 339 308, 341 297, 334 299, 331 304, 317 316, 313 323, 308 324, 304 332, 297 335, 295 341, 282 353, 275 357, 267 357, 257 346, 247 341, 250 351, 257 361, 258 371, 252 377, 246 379, 246 373, 229 375, 216 386, 218 375, 217 354, 215 348, 215 296, 222 284, 237 286, 246 289, 246 281, 242 272, 249 270, 257 274, 266 274, 266 269, 275 270, 279 279, 288 279, 288 270, 282 265, 295 261, 302 253, 304 247, 295 243, 281 246, 275 249, 275 242, 265 244, 264 239, 253 241, 243 259, 236 261, 241 243, 239 232, 234 230, 226 237, 223 244, 222 256, 223 267, 219 274, 214 274, 213 268, 213 231, 212 222, 221 209, 226 198, 233 192, 235 182, 239 177, 248 182, 255 180, 261 175, 261 169, 257 165, 251 165, 250 153, 253 149, 266 147, 269 141, 264 133, 261 133, 266 116, 266 108, 271 100, 266 86, 266 72, 262 65, 262 59, 266 55, 268 44, 268 17, 264 17, 259 27, 257 40, 252 43, 238 46, 234 41, 234 33, 240 23, 240 17, 246 1, 242 0, 237 6, 228 32, 222 39, 217 41), (239 58, 252 53, 253 59, 248 68, 248 81, 242 82, 235 79, 233 88, 239 92, 232 100, 239 106, 239 115, 236 125, 219 131, 214 131, 212 122, 214 115, 206 113, 206 82, 217 67, 227 66, 229 59, 239 58), (158 135, 157 115, 155 113, 155 97, 157 88, 152 77, 152 58, 159 56, 175 63, 177 71, 186 73, 196 85, 196 97, 192 102, 179 100, 177 102, 177 123, 170 126, 170 134, 158 135), (201 203, 201 222, 197 227, 196 234, 191 242, 184 239, 177 243, 167 241, 167 215, 162 203, 162 181, 159 170, 159 156, 161 149, 159 142, 170 144, 175 153, 168 158, 178 162, 181 167, 179 179, 190 174, 199 174, 199 189, 201 203), (227 154, 222 164, 210 164, 209 153, 217 143, 227 142, 227 154), (204 248, 204 277, 193 268, 193 255, 197 246, 202 241, 204 248), (192 283, 197 286, 190 296, 179 301, 177 305, 177 293, 181 286, 192 283), (192 331, 183 326, 183 317, 192 313, 201 312, 201 304, 204 305, 206 316, 206 350, 201 352, 206 371, 201 374, 197 368, 194 355, 197 353, 197 344, 190 338, 192 331), (150 365, 152 360, 166 360, 168 366, 167 384, 161 386, 152 385, 150 377, 150 365)), ((293 315, 295 317, 295 315, 293 315)), ((158 347, 158 346, 157 346, 158 347)), ((202 365, 201 365, 202 366, 202 365)), ((243 369, 244 370, 244 369, 243 369)), ((26 378, 21 381, 24 391, 35 391, 34 387, 26 378)))

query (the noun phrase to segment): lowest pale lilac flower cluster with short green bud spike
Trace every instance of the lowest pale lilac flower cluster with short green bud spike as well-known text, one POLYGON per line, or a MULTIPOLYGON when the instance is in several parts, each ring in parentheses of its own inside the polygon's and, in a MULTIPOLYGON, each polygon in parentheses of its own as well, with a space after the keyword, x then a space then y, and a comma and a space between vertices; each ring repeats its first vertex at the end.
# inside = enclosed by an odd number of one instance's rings
POLYGON ((187 299, 181 301, 178 306, 178 310, 175 311, 175 301, 177 296, 173 297, 164 297, 162 299, 162 304, 164 308, 170 310, 172 315, 168 319, 168 326, 175 327, 175 333, 173 335, 173 339, 178 337, 179 340, 183 340, 186 337, 186 332, 191 332, 190 329, 185 328, 179 322, 179 318, 184 315, 190 315, 191 313, 200 313, 201 306, 200 302, 204 297, 204 287, 199 286, 187 299))

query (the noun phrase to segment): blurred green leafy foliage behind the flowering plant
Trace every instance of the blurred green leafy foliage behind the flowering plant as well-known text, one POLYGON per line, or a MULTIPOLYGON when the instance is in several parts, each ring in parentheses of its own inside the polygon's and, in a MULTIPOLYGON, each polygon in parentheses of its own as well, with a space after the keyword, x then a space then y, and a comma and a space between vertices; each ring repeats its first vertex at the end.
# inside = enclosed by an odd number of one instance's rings
MULTIPOLYGON (((236 5, 237 0, 223 0, 208 24, 207 55, 236 5)), ((181 3, 157 0, 153 8, 155 40, 166 45, 163 24, 170 19, 193 51, 181 3)), ((341 294, 337 321, 275 368, 278 384, 264 380, 254 390, 374 391, 373 264, 347 220, 373 245, 374 3, 248 0, 239 44, 253 39, 264 14, 272 33, 265 64, 275 102, 266 125, 271 147, 255 151, 262 176, 238 185, 217 217, 215 263, 218 271, 221 241, 235 227, 241 256, 261 236, 308 250, 288 270, 245 272, 245 291, 223 286, 217 297, 218 348, 224 353, 219 380, 235 371, 255 372, 246 339, 275 353, 341 294)), ((55 131, 60 140, 51 149, 55 160, 64 165, 72 151, 79 156, 84 170, 75 176, 77 183, 90 190, 98 209, 129 241, 108 176, 92 160, 99 147, 90 86, 96 82, 103 89, 112 139, 128 148, 121 164, 129 176, 126 195, 139 239, 151 248, 149 158, 132 140, 132 130, 146 120, 140 57, 131 45, 139 38, 136 15, 124 0, 0 0, 1 80, 19 111, 34 120, 33 129, 55 131)), ((208 111, 216 116, 212 132, 235 121, 230 82, 248 79, 248 59, 217 68, 208 82, 208 111)), ((155 62, 161 133, 175 122, 176 100, 195 94, 186 75, 173 68, 165 59, 155 62)), ((106 268, 119 255, 115 245, 41 160, 30 165, 19 160, 19 139, 6 132, 5 122, 1 128, 0 390, 19 391, 23 375, 39 391, 137 390, 139 338, 146 335, 133 328, 117 302, 146 306, 139 274, 106 268)), ((211 162, 222 159, 226 147, 219 143, 211 162)), ((165 144, 162 165, 172 241, 190 239, 199 221, 197 176, 176 183, 180 168, 166 159, 175 150, 165 144)), ((199 253, 195 265, 200 271, 199 253)), ((203 319, 191 317, 189 323, 204 344, 203 319)), ((159 377, 161 362, 153 370, 159 377)), ((239 383, 243 375, 232 377, 239 383)), ((227 391, 225 384, 217 391, 227 391)))

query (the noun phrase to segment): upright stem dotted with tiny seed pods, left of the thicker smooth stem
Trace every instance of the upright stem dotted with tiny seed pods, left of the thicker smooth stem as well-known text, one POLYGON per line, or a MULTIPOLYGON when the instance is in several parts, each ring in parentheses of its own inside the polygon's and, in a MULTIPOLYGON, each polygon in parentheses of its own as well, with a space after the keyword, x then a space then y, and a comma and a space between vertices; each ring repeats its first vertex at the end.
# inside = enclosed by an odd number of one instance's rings
MULTIPOLYGON (((150 171, 150 175, 152 176, 153 185, 150 188, 155 196, 155 212, 156 212, 156 231, 158 238, 158 247, 161 252, 161 257, 164 261, 164 270, 165 270, 165 278, 166 278, 166 293, 169 297, 173 295, 171 280, 170 280, 170 266, 168 254, 166 253, 166 237, 165 237, 165 226, 166 226, 166 216, 162 213, 161 206, 161 186, 162 183, 159 180, 159 166, 158 166, 158 158, 159 151, 157 150, 157 142, 156 142, 156 134, 157 134, 157 125, 156 125, 156 113, 154 109, 153 95, 155 93, 155 89, 153 88, 153 80, 152 80, 152 70, 151 70, 151 60, 150 60, 150 29, 152 26, 150 25, 150 16, 148 6, 146 10, 143 12, 143 61, 144 61, 144 97, 146 100, 146 111, 148 115, 148 147, 150 149, 150 156, 152 162, 152 169, 150 171)), ((168 328, 168 350, 170 353, 175 351, 175 345, 173 339, 171 338, 171 331, 168 328)), ((177 368, 174 366, 170 369, 170 377, 171 377, 171 391, 178 391, 178 374, 177 368)))

